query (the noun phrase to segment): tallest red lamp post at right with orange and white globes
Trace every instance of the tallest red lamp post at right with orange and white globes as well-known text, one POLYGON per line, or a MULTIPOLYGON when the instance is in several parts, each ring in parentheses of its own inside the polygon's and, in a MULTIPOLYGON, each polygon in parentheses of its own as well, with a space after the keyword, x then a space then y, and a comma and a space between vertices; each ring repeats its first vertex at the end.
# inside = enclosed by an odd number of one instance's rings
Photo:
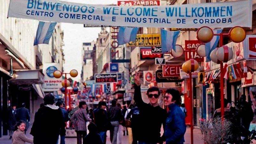
MULTIPOLYGON (((229 36, 230 39, 239 43, 245 40, 246 32, 240 26, 235 26, 230 29, 228 33, 213 33, 213 30, 207 26, 203 26, 197 30, 197 39, 203 43, 208 43, 212 40, 213 36, 220 37, 219 47, 223 47, 223 36, 229 36)), ((231 49, 232 50, 232 49, 231 49)), ((218 50, 217 50, 218 51, 218 50)), ((216 52, 216 51, 215 51, 216 52)), ((221 93, 221 116, 224 116, 224 74, 223 74, 223 62, 228 62, 232 57, 230 56, 230 50, 228 48, 223 48, 222 53, 216 53, 216 56, 220 64, 220 93, 221 93), (222 57, 222 58, 221 58, 222 57), (230 58, 231 57, 231 58, 230 58), (219 59, 220 58, 220 59, 219 59)), ((216 62, 216 61, 215 61, 216 62)))

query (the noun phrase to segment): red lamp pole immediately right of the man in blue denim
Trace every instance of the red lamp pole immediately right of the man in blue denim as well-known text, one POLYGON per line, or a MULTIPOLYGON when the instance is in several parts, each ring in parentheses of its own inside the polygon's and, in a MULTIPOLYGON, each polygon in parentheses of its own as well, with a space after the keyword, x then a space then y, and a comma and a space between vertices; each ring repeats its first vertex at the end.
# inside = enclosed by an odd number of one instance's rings
POLYGON ((191 144, 194 143, 193 139, 193 129, 194 129, 194 124, 193 124, 193 94, 192 94, 192 73, 189 72, 189 97, 190 97, 190 104, 191 104, 191 117, 190 117, 190 138, 191 138, 191 144))

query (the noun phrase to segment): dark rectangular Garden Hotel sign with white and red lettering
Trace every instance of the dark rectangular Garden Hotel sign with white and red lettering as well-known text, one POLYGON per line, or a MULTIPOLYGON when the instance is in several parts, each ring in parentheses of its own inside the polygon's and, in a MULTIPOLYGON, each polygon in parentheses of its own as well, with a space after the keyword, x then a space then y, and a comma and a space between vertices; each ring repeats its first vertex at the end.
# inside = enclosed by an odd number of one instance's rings
POLYGON ((95 74, 95 83, 116 83, 117 73, 95 74))

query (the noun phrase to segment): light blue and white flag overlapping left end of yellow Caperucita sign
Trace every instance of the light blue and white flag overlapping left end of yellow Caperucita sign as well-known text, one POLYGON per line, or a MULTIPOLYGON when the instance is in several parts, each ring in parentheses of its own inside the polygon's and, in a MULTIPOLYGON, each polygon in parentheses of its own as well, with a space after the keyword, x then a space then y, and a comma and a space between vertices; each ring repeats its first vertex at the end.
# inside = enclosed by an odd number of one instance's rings
POLYGON ((123 45, 130 41, 135 41, 138 30, 138 27, 120 27, 117 34, 118 45, 123 45))

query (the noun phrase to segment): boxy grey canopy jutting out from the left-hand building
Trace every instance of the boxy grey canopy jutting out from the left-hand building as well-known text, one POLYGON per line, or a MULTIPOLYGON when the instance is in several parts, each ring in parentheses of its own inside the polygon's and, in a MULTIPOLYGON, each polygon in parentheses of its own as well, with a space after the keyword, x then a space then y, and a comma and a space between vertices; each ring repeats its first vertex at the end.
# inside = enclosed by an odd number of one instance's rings
POLYGON ((10 83, 14 84, 42 84, 44 75, 40 69, 36 70, 14 70, 10 83))

